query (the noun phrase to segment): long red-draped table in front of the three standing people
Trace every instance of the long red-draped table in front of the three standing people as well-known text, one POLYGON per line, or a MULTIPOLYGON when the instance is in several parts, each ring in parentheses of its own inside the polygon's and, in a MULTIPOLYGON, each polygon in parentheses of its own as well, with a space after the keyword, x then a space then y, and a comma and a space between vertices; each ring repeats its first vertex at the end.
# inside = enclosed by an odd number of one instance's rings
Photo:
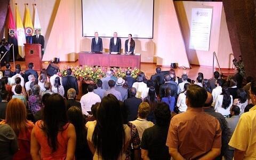
POLYGON ((79 52, 79 65, 101 66, 101 67, 131 67, 140 69, 140 54, 109 54, 79 52))

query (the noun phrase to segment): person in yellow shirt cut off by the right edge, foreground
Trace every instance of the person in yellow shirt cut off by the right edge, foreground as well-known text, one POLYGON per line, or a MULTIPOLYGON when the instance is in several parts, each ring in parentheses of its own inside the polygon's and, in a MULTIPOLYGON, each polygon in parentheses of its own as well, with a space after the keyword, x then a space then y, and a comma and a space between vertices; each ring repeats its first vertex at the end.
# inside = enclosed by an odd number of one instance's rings
MULTIPOLYGON (((250 98, 256 105, 256 81, 251 83, 250 98)), ((229 146, 235 148, 234 159, 254 159, 256 148, 256 106, 241 115, 236 129, 229 141, 229 146)))

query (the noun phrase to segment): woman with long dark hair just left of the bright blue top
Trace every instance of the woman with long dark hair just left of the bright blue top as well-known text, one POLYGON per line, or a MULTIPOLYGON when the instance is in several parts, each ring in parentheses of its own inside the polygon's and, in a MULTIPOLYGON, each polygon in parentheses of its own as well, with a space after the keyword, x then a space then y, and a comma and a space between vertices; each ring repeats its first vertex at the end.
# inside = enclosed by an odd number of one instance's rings
POLYGON ((155 87, 151 86, 149 87, 148 90, 148 97, 146 97, 144 99, 144 102, 148 102, 149 106, 150 106, 150 113, 147 116, 147 120, 153 122, 154 124, 156 123, 156 119, 154 117, 154 110, 156 108, 157 105, 157 97, 156 97, 156 90, 155 87))

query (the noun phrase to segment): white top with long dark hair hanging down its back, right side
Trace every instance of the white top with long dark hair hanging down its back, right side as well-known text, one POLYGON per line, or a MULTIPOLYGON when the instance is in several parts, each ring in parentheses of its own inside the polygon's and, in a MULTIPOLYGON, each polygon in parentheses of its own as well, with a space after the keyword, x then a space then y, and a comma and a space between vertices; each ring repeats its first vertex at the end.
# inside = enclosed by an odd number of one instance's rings
POLYGON ((229 115, 230 114, 230 108, 233 105, 232 95, 230 95, 230 97, 231 97, 230 105, 228 106, 227 109, 224 109, 224 108, 222 108, 223 95, 218 95, 217 99, 215 101, 215 105, 214 105, 215 111, 217 111, 218 113, 221 113, 223 116, 229 115))

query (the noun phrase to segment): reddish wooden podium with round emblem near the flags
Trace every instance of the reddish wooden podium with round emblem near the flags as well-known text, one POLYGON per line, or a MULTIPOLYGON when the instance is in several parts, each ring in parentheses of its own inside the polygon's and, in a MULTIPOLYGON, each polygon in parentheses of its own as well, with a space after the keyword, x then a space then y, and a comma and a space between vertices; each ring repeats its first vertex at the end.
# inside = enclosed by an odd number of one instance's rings
POLYGON ((42 50, 41 44, 24 44, 25 45, 25 62, 26 69, 28 63, 34 63, 34 70, 41 71, 42 69, 42 50))

